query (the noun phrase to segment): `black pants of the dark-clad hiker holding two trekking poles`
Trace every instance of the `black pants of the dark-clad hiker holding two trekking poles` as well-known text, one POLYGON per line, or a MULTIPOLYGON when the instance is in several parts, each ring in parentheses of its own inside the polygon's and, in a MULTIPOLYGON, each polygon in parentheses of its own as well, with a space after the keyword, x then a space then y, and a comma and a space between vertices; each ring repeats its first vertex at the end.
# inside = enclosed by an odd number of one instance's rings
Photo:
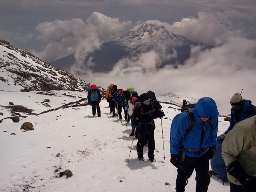
POLYGON ((154 158, 154 150, 155 150, 155 138, 154 138, 154 130, 156 126, 153 124, 149 125, 139 125, 136 128, 136 132, 138 133, 138 143, 137 143, 137 154, 138 157, 143 157, 143 146, 145 145, 146 138, 148 139, 148 158, 154 158))

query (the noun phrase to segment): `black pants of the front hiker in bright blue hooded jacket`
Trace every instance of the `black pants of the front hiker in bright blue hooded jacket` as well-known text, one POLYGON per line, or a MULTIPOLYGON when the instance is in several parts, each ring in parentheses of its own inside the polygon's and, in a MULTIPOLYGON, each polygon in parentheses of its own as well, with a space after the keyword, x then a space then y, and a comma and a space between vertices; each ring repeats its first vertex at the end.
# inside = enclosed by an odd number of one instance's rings
POLYGON ((176 179, 176 192, 184 192, 188 178, 196 170, 196 192, 206 192, 210 184, 209 154, 206 152, 200 157, 185 156, 184 162, 180 163, 176 179))

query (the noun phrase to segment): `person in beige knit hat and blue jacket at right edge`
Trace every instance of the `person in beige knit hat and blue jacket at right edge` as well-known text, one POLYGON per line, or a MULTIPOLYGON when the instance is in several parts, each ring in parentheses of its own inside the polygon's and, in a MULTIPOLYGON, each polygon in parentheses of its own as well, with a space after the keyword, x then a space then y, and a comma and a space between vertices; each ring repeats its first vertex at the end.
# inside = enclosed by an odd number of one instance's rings
POLYGON ((256 106, 252 105, 251 100, 243 99, 240 93, 235 93, 232 96, 230 105, 232 106, 230 126, 220 136, 226 136, 236 123, 256 115, 256 106))

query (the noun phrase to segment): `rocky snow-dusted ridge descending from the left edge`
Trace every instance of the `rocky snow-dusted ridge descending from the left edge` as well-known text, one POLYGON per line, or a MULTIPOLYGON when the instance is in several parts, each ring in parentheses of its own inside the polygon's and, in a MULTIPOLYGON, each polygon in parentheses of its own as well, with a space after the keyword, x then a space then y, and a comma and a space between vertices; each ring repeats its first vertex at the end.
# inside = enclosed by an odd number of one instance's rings
MULTIPOLYGON (((88 90, 90 83, 0 39, 0 90, 88 90), (10 89, 9 89, 10 90, 10 89)), ((106 92, 103 88, 100 91, 106 92)))

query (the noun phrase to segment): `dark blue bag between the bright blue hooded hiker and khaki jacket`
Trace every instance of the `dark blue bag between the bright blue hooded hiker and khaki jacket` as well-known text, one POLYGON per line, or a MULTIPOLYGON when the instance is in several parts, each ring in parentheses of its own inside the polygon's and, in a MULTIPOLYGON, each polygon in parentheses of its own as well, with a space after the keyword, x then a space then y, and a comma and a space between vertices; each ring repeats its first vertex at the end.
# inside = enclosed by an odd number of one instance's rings
POLYGON ((221 147, 222 147, 222 142, 224 139, 225 139, 225 136, 217 137, 216 150, 215 150, 213 158, 211 159, 212 171, 215 174, 217 174, 218 176, 220 176, 220 178, 222 178, 223 182, 228 181, 227 168, 226 168, 225 162, 221 156, 221 152, 222 152, 221 147))

